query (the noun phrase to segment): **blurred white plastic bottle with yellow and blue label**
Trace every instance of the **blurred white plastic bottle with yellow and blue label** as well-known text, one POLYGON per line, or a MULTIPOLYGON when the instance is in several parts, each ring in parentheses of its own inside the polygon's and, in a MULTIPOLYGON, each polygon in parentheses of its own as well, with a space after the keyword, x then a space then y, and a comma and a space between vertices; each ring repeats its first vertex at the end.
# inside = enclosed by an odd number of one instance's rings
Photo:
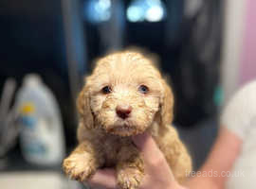
POLYGON ((29 163, 56 165, 64 159, 64 130, 57 101, 35 74, 24 78, 17 94, 20 140, 29 163))

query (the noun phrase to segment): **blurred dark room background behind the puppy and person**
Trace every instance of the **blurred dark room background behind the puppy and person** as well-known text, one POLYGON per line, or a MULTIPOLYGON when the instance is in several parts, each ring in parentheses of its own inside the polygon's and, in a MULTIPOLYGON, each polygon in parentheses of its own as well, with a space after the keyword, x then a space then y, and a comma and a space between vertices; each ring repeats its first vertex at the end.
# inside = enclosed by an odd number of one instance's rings
POLYGON ((254 9, 253 0, 0 0, 1 187, 82 188, 61 169, 77 144, 76 96, 94 60, 131 46, 169 76, 174 126, 197 169, 221 107, 256 76, 254 9))

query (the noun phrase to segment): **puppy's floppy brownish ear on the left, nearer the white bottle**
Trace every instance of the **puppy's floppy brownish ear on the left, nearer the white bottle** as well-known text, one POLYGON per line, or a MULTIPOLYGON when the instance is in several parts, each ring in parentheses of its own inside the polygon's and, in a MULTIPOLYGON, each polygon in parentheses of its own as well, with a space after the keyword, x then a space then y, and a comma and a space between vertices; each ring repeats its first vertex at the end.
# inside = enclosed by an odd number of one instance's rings
POLYGON ((77 108, 84 127, 87 129, 92 129, 94 126, 94 119, 90 106, 90 95, 86 85, 83 87, 82 92, 80 92, 78 96, 77 108))

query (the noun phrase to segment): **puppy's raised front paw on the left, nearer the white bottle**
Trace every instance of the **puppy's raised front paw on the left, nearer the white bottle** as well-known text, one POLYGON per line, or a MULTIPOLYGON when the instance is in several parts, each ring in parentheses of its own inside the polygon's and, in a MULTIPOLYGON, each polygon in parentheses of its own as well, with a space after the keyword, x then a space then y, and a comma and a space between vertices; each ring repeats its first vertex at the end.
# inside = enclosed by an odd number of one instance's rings
POLYGON ((64 159, 64 172, 72 180, 87 180, 95 171, 95 162, 87 153, 75 153, 64 159))

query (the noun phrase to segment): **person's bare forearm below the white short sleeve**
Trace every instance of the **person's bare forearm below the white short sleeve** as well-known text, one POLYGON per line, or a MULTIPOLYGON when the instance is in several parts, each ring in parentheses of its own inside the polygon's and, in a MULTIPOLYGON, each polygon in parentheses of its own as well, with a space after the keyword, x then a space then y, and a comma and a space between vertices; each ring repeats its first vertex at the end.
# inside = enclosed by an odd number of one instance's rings
POLYGON ((242 140, 224 127, 221 127, 209 158, 199 171, 192 172, 186 186, 190 189, 223 189, 229 171, 237 159, 242 140))

